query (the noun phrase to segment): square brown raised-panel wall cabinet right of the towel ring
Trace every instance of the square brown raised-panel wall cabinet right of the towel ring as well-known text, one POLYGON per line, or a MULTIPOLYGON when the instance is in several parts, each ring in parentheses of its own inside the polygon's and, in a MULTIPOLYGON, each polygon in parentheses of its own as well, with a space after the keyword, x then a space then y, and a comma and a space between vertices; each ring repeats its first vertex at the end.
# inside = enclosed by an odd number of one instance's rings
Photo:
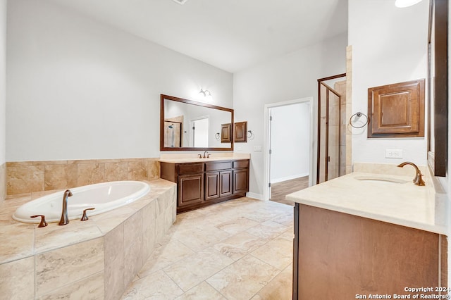
POLYGON ((424 79, 368 89, 368 137, 424 137, 424 79))

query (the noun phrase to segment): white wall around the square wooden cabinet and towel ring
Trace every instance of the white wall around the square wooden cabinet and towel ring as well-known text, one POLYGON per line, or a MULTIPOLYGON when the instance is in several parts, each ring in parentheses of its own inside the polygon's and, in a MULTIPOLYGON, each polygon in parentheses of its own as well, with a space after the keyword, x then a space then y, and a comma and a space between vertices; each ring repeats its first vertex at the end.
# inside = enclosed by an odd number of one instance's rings
MULTIPOLYGON (((427 78, 428 1, 396 8, 394 1, 349 0, 352 45, 352 112, 368 112, 368 89, 427 78)), ((367 139, 354 130, 354 162, 426 165, 426 137, 367 139), (403 158, 385 158, 385 149, 402 149, 403 158)))

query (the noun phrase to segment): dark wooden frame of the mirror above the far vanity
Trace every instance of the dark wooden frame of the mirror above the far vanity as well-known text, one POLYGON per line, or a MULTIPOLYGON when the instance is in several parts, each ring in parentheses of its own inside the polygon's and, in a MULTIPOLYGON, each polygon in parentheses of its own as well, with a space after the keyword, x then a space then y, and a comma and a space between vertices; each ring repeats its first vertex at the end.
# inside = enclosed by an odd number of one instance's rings
MULTIPOLYGON (((164 100, 178 101, 185 104, 192 104, 196 106, 203 106, 207 108, 218 109, 220 111, 227 111, 230 113, 230 124, 233 124, 233 109, 202 102, 192 101, 189 99, 178 98, 175 96, 168 96, 160 94, 160 151, 233 151, 233 140, 230 141, 230 147, 165 147, 164 146, 164 100)), ((218 131, 220 128, 218 128, 218 131)))

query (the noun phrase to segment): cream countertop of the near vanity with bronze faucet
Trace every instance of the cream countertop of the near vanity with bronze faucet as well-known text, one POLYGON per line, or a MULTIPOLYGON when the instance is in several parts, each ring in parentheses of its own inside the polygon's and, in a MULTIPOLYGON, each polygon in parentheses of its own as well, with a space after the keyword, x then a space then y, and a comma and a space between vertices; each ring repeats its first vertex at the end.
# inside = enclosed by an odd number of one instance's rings
POLYGON ((299 204, 447 235, 446 194, 439 192, 428 177, 425 187, 414 185, 413 175, 356 172, 286 198, 299 204))

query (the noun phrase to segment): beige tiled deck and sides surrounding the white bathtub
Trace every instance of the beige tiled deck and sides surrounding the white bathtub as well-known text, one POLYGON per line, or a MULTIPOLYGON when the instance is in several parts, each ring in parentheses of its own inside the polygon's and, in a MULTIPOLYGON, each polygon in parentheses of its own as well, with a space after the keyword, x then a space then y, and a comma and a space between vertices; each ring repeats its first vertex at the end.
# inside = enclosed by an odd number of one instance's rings
POLYGON ((85 222, 38 228, 18 223, 18 206, 51 192, 8 196, 0 204, 0 291, 5 299, 119 299, 175 222, 175 184, 85 222))

